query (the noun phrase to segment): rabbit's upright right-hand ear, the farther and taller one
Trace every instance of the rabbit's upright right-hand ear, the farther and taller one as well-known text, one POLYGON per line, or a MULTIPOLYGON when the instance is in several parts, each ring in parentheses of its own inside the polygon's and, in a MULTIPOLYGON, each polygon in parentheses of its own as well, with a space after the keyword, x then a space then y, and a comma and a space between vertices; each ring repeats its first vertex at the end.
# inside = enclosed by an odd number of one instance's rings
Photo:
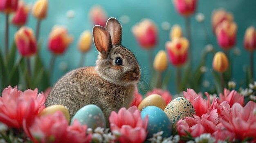
POLYGON ((116 18, 109 18, 106 24, 106 29, 110 32, 112 44, 121 45, 122 41, 122 26, 116 18))

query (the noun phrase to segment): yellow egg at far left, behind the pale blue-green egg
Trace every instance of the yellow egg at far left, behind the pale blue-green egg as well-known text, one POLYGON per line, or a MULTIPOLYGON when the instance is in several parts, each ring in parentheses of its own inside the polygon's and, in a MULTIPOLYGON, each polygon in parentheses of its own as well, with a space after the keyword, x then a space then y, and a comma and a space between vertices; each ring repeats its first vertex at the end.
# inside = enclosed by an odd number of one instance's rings
POLYGON ((65 108, 65 106, 62 105, 52 105, 52 106, 48 106, 47 108, 45 108, 44 110, 42 110, 38 116, 46 116, 46 115, 50 115, 50 114, 54 114, 57 111, 61 111, 65 118, 67 119, 68 123, 70 122, 70 113, 68 112, 67 108, 65 108))

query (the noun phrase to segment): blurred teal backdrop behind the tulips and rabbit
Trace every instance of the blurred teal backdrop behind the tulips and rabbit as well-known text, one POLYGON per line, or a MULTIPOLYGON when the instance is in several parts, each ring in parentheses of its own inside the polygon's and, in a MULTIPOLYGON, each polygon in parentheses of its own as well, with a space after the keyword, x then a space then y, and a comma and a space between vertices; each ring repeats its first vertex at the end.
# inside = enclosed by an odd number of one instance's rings
MULTIPOLYGON (((35 0, 25 0, 25 2, 33 4, 35 0)), ((55 63, 52 84, 56 82, 67 71, 74 68, 78 68, 81 53, 78 51, 76 45, 80 34, 89 29, 92 31, 93 24, 89 20, 88 11, 95 4, 99 4, 105 9, 108 17, 115 17, 120 19, 122 15, 127 15, 130 18, 128 24, 123 24, 123 38, 122 44, 135 53, 135 57, 142 70, 146 81, 150 82, 150 73, 148 66, 148 53, 141 49, 132 35, 131 27, 138 23, 143 18, 152 19, 159 30, 159 43, 154 48, 154 55, 160 49, 164 49, 164 44, 169 40, 169 30, 162 29, 162 22, 169 22, 171 25, 180 24, 182 26, 185 35, 184 18, 180 16, 171 0, 49 0, 48 15, 41 23, 40 39, 43 40, 43 46, 41 49, 41 55, 45 62, 45 65, 49 67, 49 61, 52 53, 47 48, 47 38, 56 24, 64 25, 67 27, 69 33, 74 36, 74 41, 67 49, 64 55, 58 56, 55 63), (75 12, 74 18, 69 19, 66 16, 67 11, 73 10, 75 12), (66 70, 59 68, 60 64, 67 65, 66 70)), ((236 47, 240 49, 240 55, 234 58, 233 77, 234 81, 240 82, 245 78, 244 66, 249 65, 249 53, 243 48, 243 37, 245 29, 251 25, 256 26, 256 0, 198 0, 198 7, 196 13, 203 13, 205 17, 205 25, 207 32, 210 35, 213 46, 217 47, 217 51, 221 51, 216 44, 216 38, 211 31, 211 13, 214 9, 224 8, 234 14, 234 21, 238 24, 237 31, 237 44, 236 47)), ((27 26, 35 30, 36 20, 30 14, 27 22, 27 26)), ((200 55, 202 48, 208 43, 204 35, 202 25, 195 20, 195 15, 191 17, 191 29, 192 29, 192 48, 193 48, 193 62, 197 65, 200 61, 200 55)), ((13 40, 13 34, 17 28, 11 26, 10 28, 10 43, 13 40)), ((2 51, 4 48, 4 14, 0 13, 0 47, 2 51)), ((234 57, 233 50, 231 50, 231 56, 234 57)), ((254 57, 256 54, 254 52, 254 57)), ((211 75, 211 63, 213 55, 207 57, 207 72, 204 75, 204 82, 209 81, 211 88, 214 86, 213 77, 211 75)), ((87 53, 85 59, 86 66, 94 66, 97 59, 97 50, 92 46, 91 50, 87 53)), ((256 64, 256 58, 254 59, 256 64)), ((254 65, 255 67, 255 65, 254 65)), ((169 69, 172 69, 173 74, 168 87, 168 90, 175 94, 175 68, 169 64, 169 69)), ((254 71, 256 69, 254 68, 254 71)), ((254 75, 256 75, 254 73, 254 75)))

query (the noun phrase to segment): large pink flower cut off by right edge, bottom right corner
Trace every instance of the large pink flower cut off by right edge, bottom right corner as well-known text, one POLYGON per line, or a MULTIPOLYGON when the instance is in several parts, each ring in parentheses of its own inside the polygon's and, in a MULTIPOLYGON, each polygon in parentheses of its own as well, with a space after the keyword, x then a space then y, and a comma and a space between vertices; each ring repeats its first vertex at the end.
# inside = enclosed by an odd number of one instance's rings
POLYGON ((228 110, 224 111, 228 121, 222 120, 222 124, 230 132, 236 134, 236 139, 240 141, 252 137, 256 141, 256 103, 249 101, 245 107, 240 103, 234 105, 228 110))

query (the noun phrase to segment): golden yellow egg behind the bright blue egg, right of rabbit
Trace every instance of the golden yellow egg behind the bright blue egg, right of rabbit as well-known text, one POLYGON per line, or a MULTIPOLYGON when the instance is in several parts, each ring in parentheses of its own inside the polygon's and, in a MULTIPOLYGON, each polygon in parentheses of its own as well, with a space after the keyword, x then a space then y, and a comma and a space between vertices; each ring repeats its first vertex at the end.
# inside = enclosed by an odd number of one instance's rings
POLYGON ((138 110, 141 111, 147 106, 157 106, 162 110, 164 110, 164 108, 166 107, 166 103, 162 96, 153 94, 153 95, 149 95, 148 97, 146 97, 141 101, 141 103, 138 106, 138 110))

